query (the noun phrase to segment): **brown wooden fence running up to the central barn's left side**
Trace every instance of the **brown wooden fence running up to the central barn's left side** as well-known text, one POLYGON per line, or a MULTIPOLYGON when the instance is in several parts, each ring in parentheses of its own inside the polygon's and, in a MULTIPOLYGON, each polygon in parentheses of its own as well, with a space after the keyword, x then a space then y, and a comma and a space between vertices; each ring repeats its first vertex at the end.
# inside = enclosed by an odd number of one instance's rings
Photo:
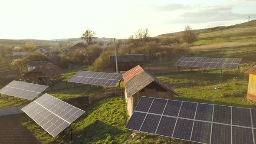
POLYGON ((125 88, 113 88, 111 90, 107 90, 100 94, 88 95, 88 98, 89 98, 89 102, 93 102, 93 101, 98 101, 105 98, 111 98, 118 95, 124 95, 124 92, 125 92, 125 88))

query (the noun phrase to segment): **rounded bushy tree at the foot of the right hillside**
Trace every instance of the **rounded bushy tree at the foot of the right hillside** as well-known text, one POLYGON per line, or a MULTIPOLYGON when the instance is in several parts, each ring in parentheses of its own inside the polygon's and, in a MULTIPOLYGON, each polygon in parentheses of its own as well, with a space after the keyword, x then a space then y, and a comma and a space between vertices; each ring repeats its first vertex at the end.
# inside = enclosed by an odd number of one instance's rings
POLYGON ((189 25, 187 25, 184 28, 182 39, 186 43, 192 43, 197 40, 197 34, 193 32, 192 28, 189 25))

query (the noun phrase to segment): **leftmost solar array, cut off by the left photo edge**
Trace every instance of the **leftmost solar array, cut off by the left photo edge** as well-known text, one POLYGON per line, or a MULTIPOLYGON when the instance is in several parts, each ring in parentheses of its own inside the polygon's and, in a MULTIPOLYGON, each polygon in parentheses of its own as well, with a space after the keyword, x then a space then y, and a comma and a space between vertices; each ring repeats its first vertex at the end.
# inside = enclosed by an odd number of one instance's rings
POLYGON ((28 82, 12 81, 0 90, 1 94, 33 100, 46 90, 48 86, 28 82))

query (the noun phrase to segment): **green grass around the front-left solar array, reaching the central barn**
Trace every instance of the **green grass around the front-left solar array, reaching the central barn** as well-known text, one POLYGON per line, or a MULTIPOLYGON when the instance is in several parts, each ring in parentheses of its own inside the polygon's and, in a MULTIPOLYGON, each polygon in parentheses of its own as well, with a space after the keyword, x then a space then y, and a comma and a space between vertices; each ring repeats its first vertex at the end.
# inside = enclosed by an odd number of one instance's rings
MULTIPOLYGON (((86 105, 82 109, 85 114, 72 124, 73 144, 117 144, 130 137, 131 131, 125 130, 128 114, 124 96, 107 98, 86 105), (78 138, 79 135, 82 136, 78 138)), ((70 141, 61 134, 53 138, 38 124, 30 122, 28 116, 22 118, 21 123, 32 131, 42 144, 69 143, 70 141)))

